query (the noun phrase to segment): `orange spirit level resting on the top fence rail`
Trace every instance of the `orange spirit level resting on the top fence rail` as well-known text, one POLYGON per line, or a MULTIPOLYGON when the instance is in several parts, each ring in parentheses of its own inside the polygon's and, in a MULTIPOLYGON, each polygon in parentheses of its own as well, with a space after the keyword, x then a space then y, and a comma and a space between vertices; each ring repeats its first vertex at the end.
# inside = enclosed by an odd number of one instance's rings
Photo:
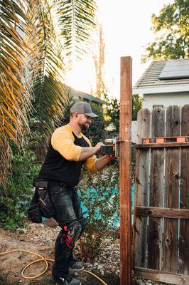
POLYGON ((159 138, 143 138, 142 143, 149 144, 149 143, 171 143, 171 142, 189 142, 189 137, 159 137, 159 138))

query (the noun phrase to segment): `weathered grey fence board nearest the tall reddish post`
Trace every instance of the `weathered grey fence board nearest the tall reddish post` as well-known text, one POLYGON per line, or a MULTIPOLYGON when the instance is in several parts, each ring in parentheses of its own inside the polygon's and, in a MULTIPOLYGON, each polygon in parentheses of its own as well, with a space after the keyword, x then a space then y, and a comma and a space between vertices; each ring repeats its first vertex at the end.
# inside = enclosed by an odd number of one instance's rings
MULTIPOLYGON (((141 109, 138 113, 137 136, 138 143, 142 138, 150 135, 151 113, 148 109, 141 109)), ((148 163, 149 150, 137 150, 136 152, 136 183, 135 201, 139 206, 148 204, 148 163)), ((147 218, 136 217, 134 215, 134 264, 145 266, 146 263, 146 237, 147 237, 147 218)))

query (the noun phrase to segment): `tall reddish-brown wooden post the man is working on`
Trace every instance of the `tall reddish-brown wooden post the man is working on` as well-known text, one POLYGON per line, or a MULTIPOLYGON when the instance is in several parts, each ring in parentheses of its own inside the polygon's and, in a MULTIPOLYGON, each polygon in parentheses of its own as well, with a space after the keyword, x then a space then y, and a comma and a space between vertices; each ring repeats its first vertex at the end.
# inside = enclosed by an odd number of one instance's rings
POLYGON ((131 94, 132 59, 121 57, 119 137, 120 285, 131 284, 131 94))

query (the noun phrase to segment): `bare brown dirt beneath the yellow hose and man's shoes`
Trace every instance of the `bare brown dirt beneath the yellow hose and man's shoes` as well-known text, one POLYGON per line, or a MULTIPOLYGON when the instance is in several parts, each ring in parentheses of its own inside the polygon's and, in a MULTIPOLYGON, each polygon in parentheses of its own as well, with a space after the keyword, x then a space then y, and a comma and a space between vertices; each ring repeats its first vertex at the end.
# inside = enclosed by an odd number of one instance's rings
MULTIPOLYGON (((45 243, 40 241, 32 241, 28 238, 27 235, 19 232, 11 233, 8 231, 4 231, 4 229, 0 228, 0 253, 7 252, 13 249, 24 249, 29 252, 36 252, 41 254, 43 257, 53 259, 53 247, 54 244, 45 243)), ((14 252, 10 254, 5 254, 0 257, 0 276, 3 276, 5 279, 9 281, 10 284, 24 284, 24 285, 50 285, 53 284, 51 279, 51 269, 52 262, 48 266, 48 271, 43 274, 43 276, 38 277, 34 280, 26 280, 21 277, 21 271, 26 264, 30 263, 33 260, 38 259, 38 257, 33 256, 32 254, 26 254, 24 252, 14 252)), ((33 276, 40 274, 45 268, 45 264, 43 262, 39 262, 37 264, 33 264, 28 269, 26 269, 26 276, 33 276)), ((92 271, 90 269, 90 271, 92 271)), ((104 280, 108 285, 116 285, 119 284, 119 277, 114 276, 114 274, 104 274, 101 276, 99 272, 93 271, 93 273, 97 274, 102 280, 104 280)), ((75 278, 78 278, 82 281, 82 285, 100 285, 102 284, 100 281, 95 279, 95 277, 90 274, 81 272, 81 273, 73 273, 75 274, 75 278)), ((6 285, 4 281, 0 280, 0 284, 6 285)))

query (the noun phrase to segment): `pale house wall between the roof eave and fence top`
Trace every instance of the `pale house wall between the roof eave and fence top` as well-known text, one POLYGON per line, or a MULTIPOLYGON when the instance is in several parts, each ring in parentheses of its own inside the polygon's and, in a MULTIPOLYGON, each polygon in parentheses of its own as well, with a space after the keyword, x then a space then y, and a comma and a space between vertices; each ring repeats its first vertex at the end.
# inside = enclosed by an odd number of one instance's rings
POLYGON ((170 105, 182 107, 189 104, 189 91, 188 93, 144 94, 142 100, 142 108, 148 108, 148 110, 152 110, 153 105, 163 105, 163 108, 168 108, 170 105))

